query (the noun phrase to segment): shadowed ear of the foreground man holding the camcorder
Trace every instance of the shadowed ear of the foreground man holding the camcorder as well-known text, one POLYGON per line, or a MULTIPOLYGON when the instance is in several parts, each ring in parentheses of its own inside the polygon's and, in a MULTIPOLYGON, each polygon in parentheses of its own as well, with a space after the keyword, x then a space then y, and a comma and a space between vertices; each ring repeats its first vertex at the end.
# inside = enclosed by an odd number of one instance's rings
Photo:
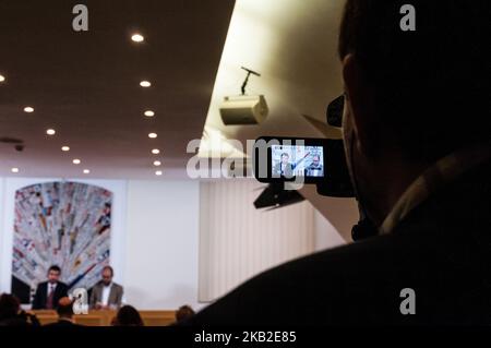
POLYGON ((363 155, 372 157, 378 152, 380 128, 370 86, 367 85, 360 65, 351 53, 343 59, 343 80, 347 99, 345 107, 350 108, 356 146, 363 155))

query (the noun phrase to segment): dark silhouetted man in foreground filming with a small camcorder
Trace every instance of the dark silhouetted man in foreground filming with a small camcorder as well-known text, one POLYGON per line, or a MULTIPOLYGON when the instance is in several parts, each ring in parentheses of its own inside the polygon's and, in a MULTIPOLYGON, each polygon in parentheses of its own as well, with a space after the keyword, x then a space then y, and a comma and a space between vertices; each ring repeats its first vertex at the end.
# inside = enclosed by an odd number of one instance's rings
POLYGON ((490 2, 412 0, 412 20, 405 3, 348 0, 338 43, 346 159, 378 236, 267 271, 188 324, 491 324, 490 2))

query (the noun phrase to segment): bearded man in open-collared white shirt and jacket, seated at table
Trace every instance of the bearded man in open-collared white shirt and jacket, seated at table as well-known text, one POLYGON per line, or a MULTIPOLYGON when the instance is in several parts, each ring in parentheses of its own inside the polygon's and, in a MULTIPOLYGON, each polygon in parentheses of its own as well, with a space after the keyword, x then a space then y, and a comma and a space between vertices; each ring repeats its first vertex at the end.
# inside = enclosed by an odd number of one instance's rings
POLYGON ((111 266, 103 268, 103 279, 92 289, 91 308, 95 310, 113 309, 121 307, 123 288, 112 281, 115 273, 111 266))

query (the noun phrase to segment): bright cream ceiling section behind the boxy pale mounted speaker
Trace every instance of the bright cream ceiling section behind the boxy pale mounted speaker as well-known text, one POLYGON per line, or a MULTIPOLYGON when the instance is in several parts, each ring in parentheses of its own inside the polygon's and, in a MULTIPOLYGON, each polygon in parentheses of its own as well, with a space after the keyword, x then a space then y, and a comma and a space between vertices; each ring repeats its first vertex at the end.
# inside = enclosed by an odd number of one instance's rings
MULTIPOLYGON (((302 115, 322 122, 327 104, 343 92, 337 36, 344 0, 238 0, 230 22, 206 127, 227 139, 254 140, 261 135, 323 136, 302 115), (263 94, 267 119, 256 125, 224 125, 223 97, 263 94)), ((243 146, 246 149, 246 146, 243 146)))

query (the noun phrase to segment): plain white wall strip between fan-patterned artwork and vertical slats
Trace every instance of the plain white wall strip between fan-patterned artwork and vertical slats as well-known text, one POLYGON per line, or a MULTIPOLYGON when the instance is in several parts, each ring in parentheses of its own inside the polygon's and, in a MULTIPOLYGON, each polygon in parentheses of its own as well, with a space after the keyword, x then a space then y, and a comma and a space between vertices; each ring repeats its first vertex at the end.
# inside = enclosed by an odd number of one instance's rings
POLYGON ((127 302, 199 308, 199 182, 129 181, 127 224, 127 302))

